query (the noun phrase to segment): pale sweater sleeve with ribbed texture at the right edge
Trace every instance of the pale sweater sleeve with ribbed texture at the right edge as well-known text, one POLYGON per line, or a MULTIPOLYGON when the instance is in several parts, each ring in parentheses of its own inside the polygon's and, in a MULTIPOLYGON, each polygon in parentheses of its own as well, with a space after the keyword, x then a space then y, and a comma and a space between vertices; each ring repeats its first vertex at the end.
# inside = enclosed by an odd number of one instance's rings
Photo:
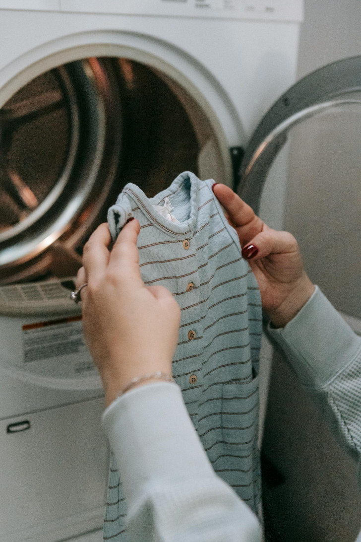
POLYGON ((356 460, 361 457, 361 338, 316 287, 284 328, 268 336, 287 354, 333 434, 356 460))

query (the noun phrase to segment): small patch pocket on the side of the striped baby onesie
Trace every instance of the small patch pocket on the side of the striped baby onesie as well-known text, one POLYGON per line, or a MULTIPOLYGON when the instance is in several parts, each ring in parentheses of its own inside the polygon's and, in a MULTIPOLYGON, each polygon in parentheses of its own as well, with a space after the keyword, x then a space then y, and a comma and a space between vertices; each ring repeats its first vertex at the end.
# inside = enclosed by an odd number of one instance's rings
POLYGON ((259 377, 251 382, 223 384, 222 437, 228 450, 252 450, 257 438, 259 377))

